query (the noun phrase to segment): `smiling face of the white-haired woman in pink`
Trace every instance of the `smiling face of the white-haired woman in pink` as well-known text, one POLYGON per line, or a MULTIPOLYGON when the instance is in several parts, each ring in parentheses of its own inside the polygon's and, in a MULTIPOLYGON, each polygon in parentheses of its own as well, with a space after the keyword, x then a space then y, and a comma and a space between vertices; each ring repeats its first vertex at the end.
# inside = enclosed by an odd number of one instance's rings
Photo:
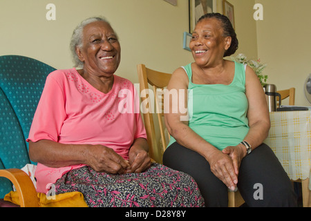
POLYGON ((77 48, 84 70, 109 77, 120 64, 121 47, 113 28, 104 21, 89 23, 83 30, 83 46, 77 48))

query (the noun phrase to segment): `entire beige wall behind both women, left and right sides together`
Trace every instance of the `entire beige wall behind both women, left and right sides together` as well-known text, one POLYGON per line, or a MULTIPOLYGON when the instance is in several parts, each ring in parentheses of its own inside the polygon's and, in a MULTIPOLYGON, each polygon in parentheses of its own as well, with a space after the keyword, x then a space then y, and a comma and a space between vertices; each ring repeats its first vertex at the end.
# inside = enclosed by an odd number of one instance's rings
MULTIPOLYGON (((303 84, 310 71, 310 0, 227 0, 234 5, 237 53, 267 63, 268 83, 279 90, 295 87, 296 104, 310 105, 303 84), (263 4, 263 21, 254 21, 254 3, 263 4)), ((223 0, 216 0, 223 12, 223 0)), ((188 1, 171 6, 162 0, 0 0, 0 55, 25 55, 71 68, 68 50, 79 21, 103 15, 118 32, 122 61, 117 74, 138 83, 136 64, 171 73, 193 61, 182 49, 189 30, 188 1), (46 20, 46 5, 55 3, 56 21, 46 20)))

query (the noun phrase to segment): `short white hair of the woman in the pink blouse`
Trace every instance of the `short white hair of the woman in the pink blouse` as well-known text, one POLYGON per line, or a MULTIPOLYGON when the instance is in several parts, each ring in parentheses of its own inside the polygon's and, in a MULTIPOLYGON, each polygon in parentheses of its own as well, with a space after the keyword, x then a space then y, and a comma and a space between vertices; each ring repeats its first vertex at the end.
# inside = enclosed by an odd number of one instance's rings
MULTIPOLYGON (((75 67, 82 68, 83 62, 80 61, 79 57, 77 56, 77 52, 75 51, 76 48, 82 48, 82 39, 83 39, 83 29, 85 26, 87 26, 89 23, 93 23, 95 21, 104 21, 106 23, 109 23, 104 17, 91 17, 88 19, 85 19, 79 25, 75 30, 73 30, 73 35, 71 36, 70 40, 70 51, 71 56, 73 57, 73 64, 75 64, 75 67)), ((110 25, 110 23, 109 23, 110 25)))

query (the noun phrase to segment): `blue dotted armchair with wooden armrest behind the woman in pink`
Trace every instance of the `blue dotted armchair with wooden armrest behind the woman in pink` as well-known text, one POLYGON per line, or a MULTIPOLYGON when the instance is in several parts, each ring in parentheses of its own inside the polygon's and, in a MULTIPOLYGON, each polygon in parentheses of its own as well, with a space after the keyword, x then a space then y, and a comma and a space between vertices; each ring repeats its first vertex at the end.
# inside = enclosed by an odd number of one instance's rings
POLYGON ((46 76, 53 70, 29 57, 0 56, 0 199, 12 191, 14 184, 21 206, 37 206, 35 186, 19 169, 35 164, 29 159, 26 138, 46 76), (33 194, 31 200, 29 195, 33 194))

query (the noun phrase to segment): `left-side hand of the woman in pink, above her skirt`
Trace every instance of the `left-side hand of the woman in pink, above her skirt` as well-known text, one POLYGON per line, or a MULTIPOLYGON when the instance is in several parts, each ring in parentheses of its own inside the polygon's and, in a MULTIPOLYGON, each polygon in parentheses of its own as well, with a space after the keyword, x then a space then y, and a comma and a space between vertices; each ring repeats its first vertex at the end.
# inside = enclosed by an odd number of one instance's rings
POLYGON ((129 162, 115 153, 112 148, 92 145, 90 151, 87 164, 97 172, 124 174, 126 169, 129 169, 129 162))

